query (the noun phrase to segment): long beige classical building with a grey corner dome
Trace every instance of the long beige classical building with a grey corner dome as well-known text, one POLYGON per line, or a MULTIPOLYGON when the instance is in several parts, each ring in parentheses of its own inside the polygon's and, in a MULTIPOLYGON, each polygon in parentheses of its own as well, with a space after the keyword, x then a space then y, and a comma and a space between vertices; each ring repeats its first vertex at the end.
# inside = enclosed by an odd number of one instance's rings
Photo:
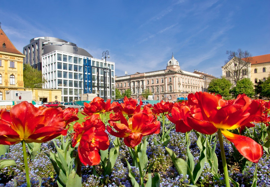
POLYGON ((142 98, 149 89, 154 100, 176 101, 177 97, 187 97, 189 93, 204 91, 205 75, 181 70, 179 62, 172 55, 166 70, 135 73, 116 77, 116 88, 124 93, 131 90, 131 97, 142 98))

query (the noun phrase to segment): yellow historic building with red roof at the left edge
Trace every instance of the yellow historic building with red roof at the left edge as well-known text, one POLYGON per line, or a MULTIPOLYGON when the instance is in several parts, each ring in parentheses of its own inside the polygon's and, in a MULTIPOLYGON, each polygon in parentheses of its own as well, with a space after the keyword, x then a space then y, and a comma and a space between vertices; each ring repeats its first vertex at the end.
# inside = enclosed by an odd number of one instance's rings
POLYGON ((24 88, 24 57, 0 25, 0 101, 14 101, 14 104, 20 101, 62 101, 61 90, 24 88))

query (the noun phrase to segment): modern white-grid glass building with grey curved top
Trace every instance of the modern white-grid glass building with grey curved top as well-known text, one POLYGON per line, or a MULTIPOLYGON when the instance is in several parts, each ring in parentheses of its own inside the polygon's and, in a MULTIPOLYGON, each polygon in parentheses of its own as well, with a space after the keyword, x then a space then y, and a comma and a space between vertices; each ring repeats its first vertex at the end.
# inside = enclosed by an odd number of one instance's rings
POLYGON ((47 80, 44 88, 62 90, 62 101, 87 99, 93 94, 115 99, 114 62, 105 64, 76 44, 53 37, 31 39, 24 54, 24 63, 42 70, 47 80))

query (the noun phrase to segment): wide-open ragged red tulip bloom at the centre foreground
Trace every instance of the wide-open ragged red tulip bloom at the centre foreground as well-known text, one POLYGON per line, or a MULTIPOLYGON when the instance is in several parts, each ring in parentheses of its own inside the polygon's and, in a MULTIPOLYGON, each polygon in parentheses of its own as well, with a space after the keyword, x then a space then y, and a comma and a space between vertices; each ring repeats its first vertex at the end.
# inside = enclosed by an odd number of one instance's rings
POLYGON ((143 136, 159 133, 160 122, 156 121, 156 117, 152 114, 147 113, 149 111, 151 110, 145 109, 144 112, 135 113, 128 121, 122 113, 119 113, 121 123, 110 121, 110 125, 118 132, 113 131, 109 125, 107 131, 113 136, 124 138, 124 143, 134 148, 141 143, 143 136))

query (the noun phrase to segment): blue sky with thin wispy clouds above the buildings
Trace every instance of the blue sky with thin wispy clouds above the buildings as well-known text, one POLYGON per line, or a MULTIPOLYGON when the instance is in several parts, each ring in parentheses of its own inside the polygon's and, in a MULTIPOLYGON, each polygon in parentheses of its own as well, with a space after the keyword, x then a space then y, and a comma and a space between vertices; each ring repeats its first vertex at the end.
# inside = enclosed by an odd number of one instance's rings
POLYGON ((172 53, 181 69, 220 77, 227 50, 270 53, 269 0, 2 1, 2 29, 23 51, 51 36, 97 59, 109 51, 116 75, 165 69, 172 53))

